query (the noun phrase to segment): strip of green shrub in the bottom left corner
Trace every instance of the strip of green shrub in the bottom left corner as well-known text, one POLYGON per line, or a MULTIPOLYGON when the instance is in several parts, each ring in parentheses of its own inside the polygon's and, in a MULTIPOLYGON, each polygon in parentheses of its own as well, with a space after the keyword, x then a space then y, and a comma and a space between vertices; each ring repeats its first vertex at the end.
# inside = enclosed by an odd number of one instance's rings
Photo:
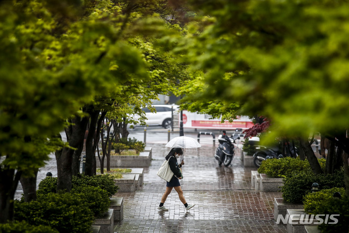
POLYGON ((26 221, 11 221, 0 224, 0 233, 59 233, 50 226, 33 226, 26 221))

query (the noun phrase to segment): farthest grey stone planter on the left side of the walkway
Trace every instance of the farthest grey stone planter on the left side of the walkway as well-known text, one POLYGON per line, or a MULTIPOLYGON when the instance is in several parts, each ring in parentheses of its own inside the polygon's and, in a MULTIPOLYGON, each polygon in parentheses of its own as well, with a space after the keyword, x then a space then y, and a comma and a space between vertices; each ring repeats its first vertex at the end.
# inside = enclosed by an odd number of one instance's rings
MULTIPOLYGON (((111 167, 149 167, 151 152, 141 152, 140 155, 111 156, 111 167)), ((96 156, 97 167, 100 167, 98 156, 96 156)), ((107 159, 104 159, 104 167, 107 167, 107 159)))

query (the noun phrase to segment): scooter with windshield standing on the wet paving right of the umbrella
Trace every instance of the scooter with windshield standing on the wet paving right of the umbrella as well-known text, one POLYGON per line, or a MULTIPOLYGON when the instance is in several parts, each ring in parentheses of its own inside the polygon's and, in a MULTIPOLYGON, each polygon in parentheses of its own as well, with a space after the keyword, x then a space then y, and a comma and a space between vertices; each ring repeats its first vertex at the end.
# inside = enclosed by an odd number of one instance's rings
POLYGON ((226 131, 222 131, 223 135, 219 135, 218 142, 219 146, 216 149, 215 159, 218 160, 218 165, 224 164, 229 166, 235 155, 235 140, 240 139, 238 135, 229 137, 226 135, 226 131))

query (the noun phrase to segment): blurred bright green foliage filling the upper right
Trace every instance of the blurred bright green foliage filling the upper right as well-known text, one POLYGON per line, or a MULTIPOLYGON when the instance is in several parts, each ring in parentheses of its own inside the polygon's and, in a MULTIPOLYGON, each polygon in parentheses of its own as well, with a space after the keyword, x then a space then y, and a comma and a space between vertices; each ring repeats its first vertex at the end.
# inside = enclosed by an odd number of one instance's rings
POLYGON ((348 128, 347 1, 189 2, 207 16, 182 43, 205 82, 187 102, 235 102, 268 117, 271 137, 348 128))

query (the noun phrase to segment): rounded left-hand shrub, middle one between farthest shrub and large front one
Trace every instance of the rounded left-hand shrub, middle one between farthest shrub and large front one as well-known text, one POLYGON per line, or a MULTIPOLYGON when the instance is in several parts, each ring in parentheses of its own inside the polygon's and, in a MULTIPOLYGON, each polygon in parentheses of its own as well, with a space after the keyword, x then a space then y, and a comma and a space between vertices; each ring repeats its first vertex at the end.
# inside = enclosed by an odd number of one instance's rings
POLYGON ((79 198, 85 206, 89 207, 95 217, 107 212, 111 203, 108 192, 99 187, 90 185, 76 186, 71 190, 71 194, 79 198))

